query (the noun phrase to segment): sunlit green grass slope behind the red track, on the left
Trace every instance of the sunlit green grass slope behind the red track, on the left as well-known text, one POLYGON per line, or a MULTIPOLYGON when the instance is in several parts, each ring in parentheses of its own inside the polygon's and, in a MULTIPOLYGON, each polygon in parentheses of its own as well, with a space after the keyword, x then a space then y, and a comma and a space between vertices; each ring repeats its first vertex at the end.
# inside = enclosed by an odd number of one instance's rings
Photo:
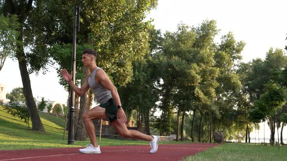
MULTIPOLYGON (((79 147, 90 143, 87 141, 75 141, 74 145, 67 145, 68 131, 63 140, 64 118, 54 117, 48 113, 39 113, 46 132, 37 132, 28 129, 28 126, 14 117, 0 106, 0 150, 16 149, 37 149, 37 148, 59 148, 79 147)), ((32 125, 30 121, 30 125, 32 125)), ((99 137, 97 137, 99 143, 99 137)), ((190 143, 185 142, 164 142, 164 144, 190 143)), ((149 145, 146 141, 126 141, 102 138, 101 146, 112 145, 149 145)))

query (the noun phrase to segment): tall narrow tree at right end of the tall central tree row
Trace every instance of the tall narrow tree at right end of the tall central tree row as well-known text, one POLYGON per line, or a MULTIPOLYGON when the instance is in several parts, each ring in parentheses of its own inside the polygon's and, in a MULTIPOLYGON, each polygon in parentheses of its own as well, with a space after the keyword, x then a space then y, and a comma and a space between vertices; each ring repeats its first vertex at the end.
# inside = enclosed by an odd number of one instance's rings
MULTIPOLYGON (((243 41, 237 42, 235 40, 232 32, 223 35, 221 43, 215 46, 214 60, 219 74, 216 78, 218 82, 218 86, 215 89, 216 99, 211 103, 212 131, 224 131, 225 136, 233 133, 231 129, 233 129, 234 124, 237 125, 235 127, 239 126, 235 118, 244 118, 239 116, 242 110, 241 106, 239 106, 240 99, 238 99, 241 97, 239 95, 241 82, 240 75, 236 73, 244 46, 245 43, 243 41), (234 120, 230 118, 231 115, 234 117, 234 120)), ((235 136, 238 136, 238 133, 235 136)))

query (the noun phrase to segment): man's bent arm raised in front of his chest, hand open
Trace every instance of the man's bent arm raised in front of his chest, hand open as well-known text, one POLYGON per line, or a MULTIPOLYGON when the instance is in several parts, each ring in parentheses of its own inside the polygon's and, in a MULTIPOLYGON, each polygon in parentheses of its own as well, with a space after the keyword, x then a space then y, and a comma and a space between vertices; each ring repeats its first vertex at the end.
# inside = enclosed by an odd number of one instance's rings
POLYGON ((89 83, 88 79, 86 78, 86 81, 84 84, 79 88, 75 85, 75 83, 72 81, 72 72, 69 74, 66 69, 62 69, 62 76, 69 83, 69 85, 72 87, 72 90, 79 96, 83 96, 88 90, 89 90, 89 83))

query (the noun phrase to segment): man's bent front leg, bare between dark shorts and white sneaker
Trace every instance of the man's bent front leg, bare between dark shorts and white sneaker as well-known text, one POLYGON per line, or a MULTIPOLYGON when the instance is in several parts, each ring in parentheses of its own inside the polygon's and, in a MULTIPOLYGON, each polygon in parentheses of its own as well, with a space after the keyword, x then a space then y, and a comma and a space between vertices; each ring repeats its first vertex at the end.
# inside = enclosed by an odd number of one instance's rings
POLYGON ((83 114, 83 121, 86 127, 86 131, 90 138, 90 144, 92 144, 94 147, 98 147, 97 139, 96 139, 96 133, 95 133, 95 127, 92 122, 92 119, 102 119, 106 118, 105 109, 97 106, 95 108, 90 109, 88 112, 83 114))

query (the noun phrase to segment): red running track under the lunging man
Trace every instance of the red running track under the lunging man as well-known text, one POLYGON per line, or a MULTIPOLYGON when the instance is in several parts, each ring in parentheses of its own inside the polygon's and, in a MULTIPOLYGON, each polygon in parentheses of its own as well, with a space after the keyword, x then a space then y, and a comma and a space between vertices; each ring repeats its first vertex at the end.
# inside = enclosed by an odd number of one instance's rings
POLYGON ((150 154, 149 145, 103 146, 101 154, 82 154, 79 147, 0 151, 0 161, 179 161, 218 144, 160 144, 150 154))

